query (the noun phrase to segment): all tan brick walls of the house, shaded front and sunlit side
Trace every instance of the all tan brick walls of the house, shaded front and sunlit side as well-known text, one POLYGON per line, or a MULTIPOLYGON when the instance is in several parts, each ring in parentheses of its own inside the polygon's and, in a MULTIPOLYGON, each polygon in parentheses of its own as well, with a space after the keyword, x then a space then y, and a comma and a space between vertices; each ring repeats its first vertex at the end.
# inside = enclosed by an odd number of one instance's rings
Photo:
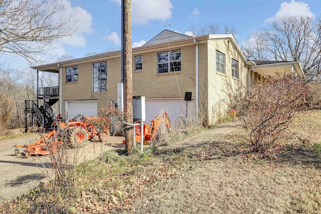
MULTIPOLYGON (((209 41, 199 46, 199 115, 205 125, 212 125, 228 113, 228 95, 235 93, 238 84, 247 84, 247 69, 235 47, 227 40, 209 41), (216 50, 225 54, 225 74, 216 72, 216 50), (231 60, 238 61, 239 79, 232 78, 231 60)), ((132 56, 133 96, 146 98, 179 98, 185 92, 195 97, 195 45, 172 48, 181 50, 182 71, 157 74, 157 53, 169 51, 162 49, 132 56), (142 70, 135 71, 135 56, 142 55, 142 70)), ((66 100, 97 100, 98 110, 108 107, 111 100, 117 99, 117 83, 120 82, 120 57, 106 58, 107 92, 94 93, 92 81, 92 63, 103 60, 75 64, 78 66, 78 82, 66 83, 66 68, 63 67, 63 112, 66 100)))

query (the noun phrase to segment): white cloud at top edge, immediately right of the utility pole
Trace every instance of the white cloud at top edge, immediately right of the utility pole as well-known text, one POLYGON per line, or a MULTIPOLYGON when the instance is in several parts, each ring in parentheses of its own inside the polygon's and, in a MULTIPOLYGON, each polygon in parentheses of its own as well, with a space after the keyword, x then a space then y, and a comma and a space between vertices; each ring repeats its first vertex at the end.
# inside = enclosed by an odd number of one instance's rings
MULTIPOLYGON (((120 0, 110 1, 121 4, 120 0)), ((165 21, 172 17, 173 8, 171 0, 132 0, 131 21, 138 25, 146 25, 150 20, 165 21)))

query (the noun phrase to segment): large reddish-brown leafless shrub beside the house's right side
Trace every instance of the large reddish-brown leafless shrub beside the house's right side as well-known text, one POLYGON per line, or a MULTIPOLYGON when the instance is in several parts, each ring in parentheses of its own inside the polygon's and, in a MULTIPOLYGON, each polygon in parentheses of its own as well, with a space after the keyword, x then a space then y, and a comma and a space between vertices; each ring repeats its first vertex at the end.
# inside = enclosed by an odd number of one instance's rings
POLYGON ((265 76, 248 95, 234 97, 233 108, 244 123, 254 151, 267 154, 283 137, 307 92, 306 84, 292 76, 265 76))

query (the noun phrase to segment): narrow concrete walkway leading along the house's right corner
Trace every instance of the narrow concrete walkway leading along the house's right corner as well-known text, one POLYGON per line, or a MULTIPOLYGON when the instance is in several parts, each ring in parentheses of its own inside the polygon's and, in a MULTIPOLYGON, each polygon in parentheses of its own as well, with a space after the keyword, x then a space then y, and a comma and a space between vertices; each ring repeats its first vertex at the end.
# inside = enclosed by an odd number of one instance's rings
POLYGON ((195 135, 183 141, 177 142, 172 146, 185 147, 187 149, 198 149, 213 142, 217 138, 223 136, 227 132, 237 127, 242 127, 242 124, 239 121, 236 121, 236 122, 229 121, 229 122, 221 123, 217 126, 213 126, 208 130, 205 130, 199 133, 198 135, 195 135))

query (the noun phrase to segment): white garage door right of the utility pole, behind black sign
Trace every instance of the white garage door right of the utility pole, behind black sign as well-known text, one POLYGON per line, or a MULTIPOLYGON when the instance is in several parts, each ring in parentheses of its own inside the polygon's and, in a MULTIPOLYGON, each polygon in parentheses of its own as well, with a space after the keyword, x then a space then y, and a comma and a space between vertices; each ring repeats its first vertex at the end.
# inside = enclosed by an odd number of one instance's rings
MULTIPOLYGON (((146 99, 146 121, 149 122, 163 111, 167 112, 171 121, 176 121, 181 116, 186 116, 186 101, 184 99, 146 99)), ((195 100, 188 102, 188 116, 195 115, 195 100)))

